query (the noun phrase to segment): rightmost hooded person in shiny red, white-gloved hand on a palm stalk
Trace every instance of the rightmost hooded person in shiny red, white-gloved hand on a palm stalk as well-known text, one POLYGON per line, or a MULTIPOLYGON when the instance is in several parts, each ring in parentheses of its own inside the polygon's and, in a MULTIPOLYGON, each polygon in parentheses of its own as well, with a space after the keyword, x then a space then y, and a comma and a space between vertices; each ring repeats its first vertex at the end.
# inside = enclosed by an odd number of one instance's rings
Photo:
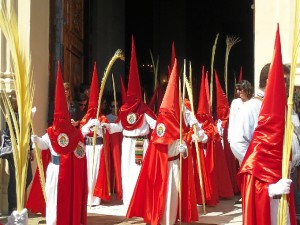
POLYGON ((297 224, 292 180, 282 178, 286 104, 278 27, 258 124, 237 175, 244 225, 277 224, 278 195, 282 194, 287 194, 288 200, 286 224, 297 224))

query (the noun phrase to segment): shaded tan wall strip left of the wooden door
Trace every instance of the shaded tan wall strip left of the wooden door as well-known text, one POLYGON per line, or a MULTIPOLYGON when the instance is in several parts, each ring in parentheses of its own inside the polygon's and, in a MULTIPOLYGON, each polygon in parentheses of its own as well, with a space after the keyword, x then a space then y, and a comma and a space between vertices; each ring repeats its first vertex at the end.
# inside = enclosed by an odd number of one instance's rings
MULTIPOLYGON (((28 0, 23 0, 28 2, 28 0)), ((49 84, 49 0, 31 0, 30 49, 35 92, 33 105, 37 112, 33 118, 34 132, 41 136, 47 128, 49 84)), ((36 161, 32 163, 33 175, 36 161)), ((29 186, 27 193, 30 192, 29 186)))

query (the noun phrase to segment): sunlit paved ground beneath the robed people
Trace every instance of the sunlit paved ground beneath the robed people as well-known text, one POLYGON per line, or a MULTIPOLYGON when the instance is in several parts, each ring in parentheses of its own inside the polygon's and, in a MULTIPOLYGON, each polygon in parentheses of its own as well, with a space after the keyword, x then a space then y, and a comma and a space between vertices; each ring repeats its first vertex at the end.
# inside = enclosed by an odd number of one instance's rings
MULTIPOLYGON (((199 208, 199 221, 189 223, 189 225, 242 225, 241 205, 234 205, 239 199, 236 196, 233 199, 221 200, 216 207, 206 207, 206 214, 203 215, 203 207, 199 208)), ((141 203, 142 204, 142 203, 141 203)), ((102 203, 100 206, 88 208, 88 225, 145 225, 141 218, 127 219, 125 210, 119 201, 102 203)), ((0 217, 0 224, 5 224, 7 217, 0 217)), ((28 225, 45 225, 44 217, 36 214, 29 215, 28 225)), ((180 222, 176 223, 180 224, 180 222)), ((181 223, 185 224, 185 223, 181 223)))

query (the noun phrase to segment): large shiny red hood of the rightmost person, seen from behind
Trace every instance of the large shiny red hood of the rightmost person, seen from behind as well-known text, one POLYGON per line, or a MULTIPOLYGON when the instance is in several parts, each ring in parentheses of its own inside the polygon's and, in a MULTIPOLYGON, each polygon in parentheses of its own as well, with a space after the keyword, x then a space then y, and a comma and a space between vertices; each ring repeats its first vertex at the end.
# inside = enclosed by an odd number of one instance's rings
POLYGON ((258 124, 238 173, 239 180, 245 173, 267 183, 275 183, 281 178, 286 103, 278 26, 258 124))

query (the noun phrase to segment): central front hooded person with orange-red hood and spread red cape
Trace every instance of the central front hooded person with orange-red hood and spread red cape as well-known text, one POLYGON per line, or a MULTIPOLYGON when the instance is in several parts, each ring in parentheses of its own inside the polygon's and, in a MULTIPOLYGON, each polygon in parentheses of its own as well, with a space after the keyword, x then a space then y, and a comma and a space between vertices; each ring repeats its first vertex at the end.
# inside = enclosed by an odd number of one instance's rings
MULTIPOLYGON (((183 140, 180 140, 178 96, 178 72, 175 60, 160 106, 157 124, 152 132, 126 214, 128 218, 142 217, 147 223, 167 225, 175 224, 177 219, 182 222, 198 220, 191 150, 188 148, 185 135, 183 140)), ((189 116, 186 113, 187 111, 184 111, 182 114, 183 133, 189 131, 187 125, 197 123, 195 118, 187 121, 189 116)), ((198 137, 198 140, 201 141, 203 138, 205 135, 198 137)))

